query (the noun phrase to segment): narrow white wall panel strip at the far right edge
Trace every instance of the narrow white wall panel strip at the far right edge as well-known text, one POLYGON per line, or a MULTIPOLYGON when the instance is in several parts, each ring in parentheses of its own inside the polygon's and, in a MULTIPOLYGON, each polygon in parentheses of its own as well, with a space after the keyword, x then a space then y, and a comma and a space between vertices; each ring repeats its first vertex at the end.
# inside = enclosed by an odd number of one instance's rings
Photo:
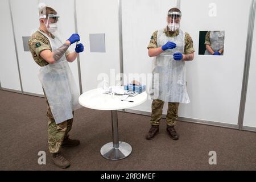
POLYGON ((245 115, 243 119, 243 126, 256 128, 256 19, 254 22, 254 32, 253 32, 253 46, 251 47, 251 61, 250 61, 250 71, 249 80, 247 87, 247 96, 245 104, 245 115))

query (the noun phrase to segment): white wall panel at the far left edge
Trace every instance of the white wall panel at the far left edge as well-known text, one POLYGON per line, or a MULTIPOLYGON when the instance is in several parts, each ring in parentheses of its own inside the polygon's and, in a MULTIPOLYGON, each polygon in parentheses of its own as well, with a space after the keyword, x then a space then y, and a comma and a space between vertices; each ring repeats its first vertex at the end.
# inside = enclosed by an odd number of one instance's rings
POLYGON ((0 1, 1 44, 0 44, 0 81, 1 87, 21 91, 18 64, 15 53, 13 28, 9 1, 0 1))

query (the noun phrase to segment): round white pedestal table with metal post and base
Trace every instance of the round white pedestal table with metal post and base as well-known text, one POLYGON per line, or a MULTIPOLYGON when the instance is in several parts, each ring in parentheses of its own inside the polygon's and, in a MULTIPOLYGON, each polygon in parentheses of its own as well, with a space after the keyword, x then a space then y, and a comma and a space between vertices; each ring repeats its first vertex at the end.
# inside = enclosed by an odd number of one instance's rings
POLYGON ((101 147, 101 155, 110 160, 124 159, 131 154, 132 149, 130 144, 120 142, 118 139, 117 110, 142 104, 147 100, 147 93, 143 92, 135 97, 128 97, 126 100, 133 102, 127 102, 121 101, 121 95, 104 94, 104 92, 101 88, 89 90, 81 94, 79 104, 90 109, 111 110, 113 142, 106 143, 101 147))

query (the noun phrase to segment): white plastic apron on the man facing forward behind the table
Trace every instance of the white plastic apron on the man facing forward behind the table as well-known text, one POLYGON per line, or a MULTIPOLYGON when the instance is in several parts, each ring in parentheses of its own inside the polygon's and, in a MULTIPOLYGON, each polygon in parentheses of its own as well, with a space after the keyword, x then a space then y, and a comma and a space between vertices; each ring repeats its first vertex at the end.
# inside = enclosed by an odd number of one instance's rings
POLYGON ((168 41, 176 43, 176 48, 167 49, 156 56, 152 64, 152 85, 150 95, 152 99, 165 102, 189 103, 185 81, 185 62, 174 60, 175 52, 184 52, 184 32, 179 29, 175 38, 167 37, 163 30, 158 31, 158 47, 168 41))

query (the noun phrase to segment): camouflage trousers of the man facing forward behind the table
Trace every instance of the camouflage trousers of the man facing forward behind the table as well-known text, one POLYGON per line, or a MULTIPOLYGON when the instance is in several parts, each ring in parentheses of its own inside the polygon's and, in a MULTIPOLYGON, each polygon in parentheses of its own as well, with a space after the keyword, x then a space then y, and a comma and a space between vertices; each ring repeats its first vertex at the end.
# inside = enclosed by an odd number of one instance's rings
MULTIPOLYGON (((164 101, 153 100, 152 102, 152 113, 151 113, 151 125, 159 125, 160 119, 162 118, 164 101)), ((168 102, 168 110, 166 115, 166 124, 168 126, 175 126, 176 119, 178 118, 179 102, 168 102)))

